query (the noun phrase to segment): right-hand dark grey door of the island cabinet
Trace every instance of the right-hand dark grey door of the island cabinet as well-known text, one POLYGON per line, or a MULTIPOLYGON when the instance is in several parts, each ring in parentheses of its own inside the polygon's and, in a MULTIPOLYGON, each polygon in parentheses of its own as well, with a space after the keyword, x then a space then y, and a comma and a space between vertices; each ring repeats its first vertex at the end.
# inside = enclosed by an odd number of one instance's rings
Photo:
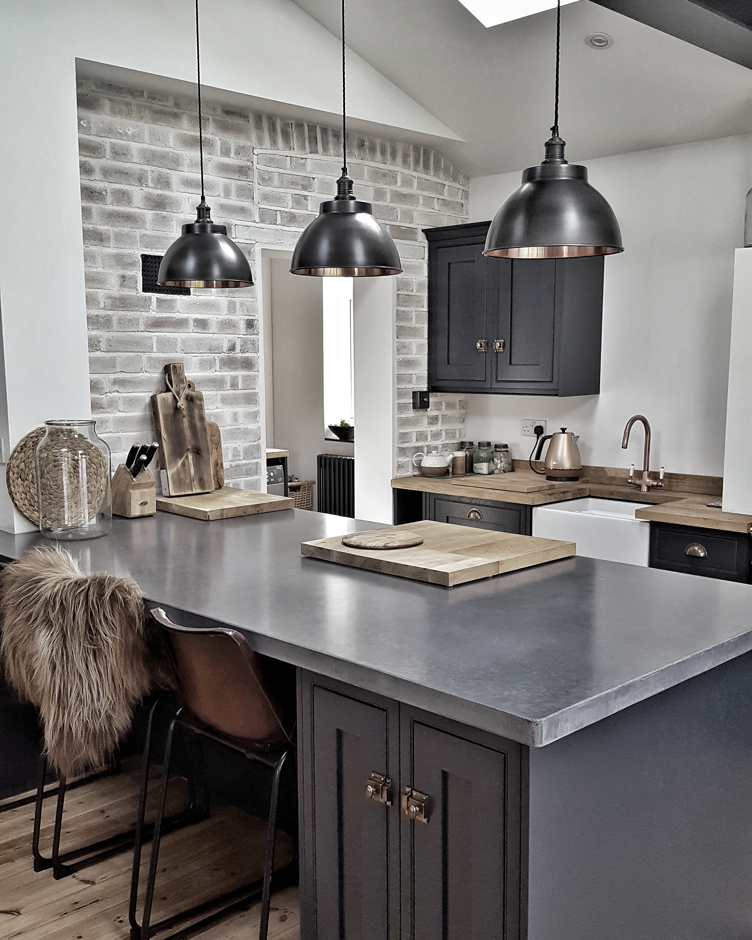
POLYGON ((519 937, 519 746, 497 750, 408 713, 401 766, 402 785, 429 798, 428 823, 402 816, 404 940, 519 937))

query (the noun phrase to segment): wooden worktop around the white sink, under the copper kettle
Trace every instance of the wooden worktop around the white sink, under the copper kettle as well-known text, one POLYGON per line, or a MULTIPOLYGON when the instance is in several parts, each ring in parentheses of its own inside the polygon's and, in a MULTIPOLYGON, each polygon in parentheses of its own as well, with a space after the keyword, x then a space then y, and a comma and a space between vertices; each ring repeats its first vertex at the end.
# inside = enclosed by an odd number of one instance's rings
MULTIPOLYGON (((532 474, 526 461, 515 461, 515 472, 509 475, 509 481, 540 479, 532 474)), ((540 466, 540 464, 539 464, 540 466)), ((468 477, 457 479, 436 477, 398 477, 392 480, 396 490, 417 490, 421 493, 442 493, 450 496, 468 496, 473 499, 485 499, 491 502, 518 503, 525 506, 545 506, 559 503, 565 499, 581 499, 584 496, 598 496, 603 499, 620 499, 632 503, 650 503, 648 509, 637 509, 637 519, 649 519, 652 522, 670 523, 671 525, 693 525, 697 528, 721 529, 727 532, 749 532, 752 527, 752 515, 740 515, 711 509, 708 503, 720 499, 723 479, 720 477, 700 477, 692 474, 666 474, 664 487, 640 493, 639 487, 627 483, 629 471, 616 467, 584 466, 582 477, 576 482, 546 482, 546 489, 533 493, 521 493, 519 487, 514 490, 503 489, 507 475, 493 474, 490 477, 478 476, 478 485, 462 483, 468 477), (487 485, 484 486, 484 483, 487 485), (488 485, 491 483, 491 485, 488 485)))

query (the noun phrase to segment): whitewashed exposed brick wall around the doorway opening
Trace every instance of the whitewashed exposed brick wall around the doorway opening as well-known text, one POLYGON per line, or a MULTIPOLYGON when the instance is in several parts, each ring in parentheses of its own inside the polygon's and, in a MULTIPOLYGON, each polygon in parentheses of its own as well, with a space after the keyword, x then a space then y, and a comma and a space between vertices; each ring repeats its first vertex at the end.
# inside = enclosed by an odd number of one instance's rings
MULTIPOLYGON (((79 150, 92 409, 122 460, 151 434, 149 396, 165 363, 181 360, 222 428, 228 481, 258 489, 262 461, 256 288, 190 297, 140 290, 140 255, 164 254, 195 215, 196 102, 90 80, 79 83, 79 150)), ((341 134, 207 103, 206 193, 214 221, 255 271, 258 243, 292 248, 334 196, 341 134)), ((430 149, 348 135, 355 195, 373 203, 402 259, 397 300, 399 473, 427 443, 462 436, 464 400, 431 396, 427 383, 427 245, 422 227, 467 217, 467 179, 430 149)))

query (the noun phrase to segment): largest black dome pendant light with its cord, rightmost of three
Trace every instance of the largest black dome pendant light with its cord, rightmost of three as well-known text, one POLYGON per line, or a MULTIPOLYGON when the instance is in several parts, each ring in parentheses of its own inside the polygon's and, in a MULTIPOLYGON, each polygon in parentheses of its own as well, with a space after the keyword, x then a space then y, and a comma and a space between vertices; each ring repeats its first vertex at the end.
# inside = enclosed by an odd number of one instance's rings
POLYGON ((554 126, 540 166, 529 166, 523 183, 496 212, 484 255, 493 258, 582 258, 624 250, 614 211, 587 182, 587 167, 568 164, 558 135, 558 63, 561 0, 556 3, 556 94, 554 126))

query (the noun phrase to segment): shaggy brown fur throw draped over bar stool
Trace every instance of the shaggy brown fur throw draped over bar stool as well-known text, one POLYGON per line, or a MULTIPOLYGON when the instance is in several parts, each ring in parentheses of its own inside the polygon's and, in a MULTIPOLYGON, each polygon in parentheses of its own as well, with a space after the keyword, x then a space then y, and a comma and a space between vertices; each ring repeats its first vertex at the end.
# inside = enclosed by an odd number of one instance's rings
POLYGON ((85 575, 59 548, 33 549, 0 574, 0 631, 8 682, 39 708, 48 759, 63 776, 106 766, 133 707, 169 684, 150 666, 138 587, 85 575))

